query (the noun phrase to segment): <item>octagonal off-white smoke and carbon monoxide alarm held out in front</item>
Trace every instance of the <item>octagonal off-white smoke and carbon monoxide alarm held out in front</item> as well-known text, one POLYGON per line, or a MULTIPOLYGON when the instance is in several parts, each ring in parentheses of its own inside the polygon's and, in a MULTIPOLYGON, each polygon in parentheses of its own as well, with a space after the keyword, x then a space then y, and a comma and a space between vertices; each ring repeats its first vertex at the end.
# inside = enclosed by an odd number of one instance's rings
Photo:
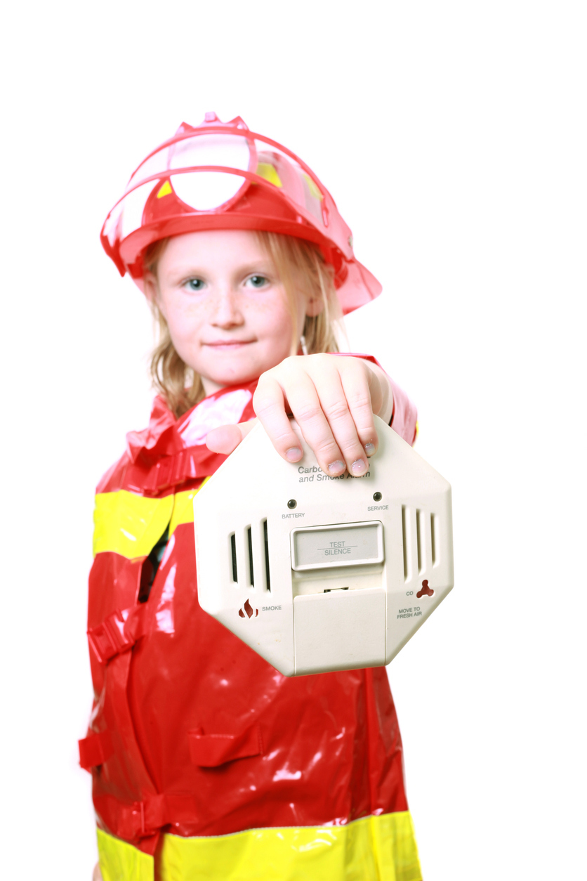
POLYGON ((389 663, 452 588, 451 486, 376 424, 363 478, 258 425, 194 497, 202 609, 285 676, 389 663))

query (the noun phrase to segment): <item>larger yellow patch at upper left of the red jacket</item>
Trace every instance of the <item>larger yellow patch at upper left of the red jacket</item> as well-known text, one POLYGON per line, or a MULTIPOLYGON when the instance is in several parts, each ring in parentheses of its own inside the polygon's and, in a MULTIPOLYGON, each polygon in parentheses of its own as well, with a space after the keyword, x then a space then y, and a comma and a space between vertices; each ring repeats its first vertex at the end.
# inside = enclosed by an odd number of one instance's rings
POLYGON ((94 509, 94 556, 111 551, 122 557, 145 557, 171 519, 173 496, 145 499, 127 490, 99 492, 94 509))

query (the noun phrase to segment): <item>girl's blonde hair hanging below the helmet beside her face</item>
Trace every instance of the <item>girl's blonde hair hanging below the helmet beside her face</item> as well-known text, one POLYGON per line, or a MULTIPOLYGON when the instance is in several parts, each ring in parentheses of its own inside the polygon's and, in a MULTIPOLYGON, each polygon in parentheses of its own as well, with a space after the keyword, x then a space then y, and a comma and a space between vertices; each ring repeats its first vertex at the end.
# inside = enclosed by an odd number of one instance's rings
MULTIPOLYGON (((292 344, 296 346, 298 342, 297 296, 298 292, 304 291, 309 300, 318 300, 322 306, 319 315, 305 316, 304 337, 308 354, 338 352, 335 328, 342 315, 334 288, 333 267, 326 263, 312 242, 281 233, 255 234, 287 293, 292 316, 292 344)), ((167 241, 153 242, 144 254, 144 269, 156 278, 157 264, 167 241)), ((151 380, 175 418, 180 418, 205 397, 202 377, 175 351, 167 322, 156 302, 151 301, 151 309, 158 333, 158 343, 150 356, 151 380)))

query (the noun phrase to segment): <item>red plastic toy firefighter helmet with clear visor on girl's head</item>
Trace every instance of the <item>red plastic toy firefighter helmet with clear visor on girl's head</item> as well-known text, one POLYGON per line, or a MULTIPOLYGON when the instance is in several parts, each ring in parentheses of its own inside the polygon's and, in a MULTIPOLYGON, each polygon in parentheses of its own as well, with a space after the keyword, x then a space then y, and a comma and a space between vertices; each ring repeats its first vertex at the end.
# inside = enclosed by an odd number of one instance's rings
POLYGON ((356 260, 334 199, 312 170, 239 116, 207 113, 182 122, 136 169, 100 233, 121 275, 142 287, 143 252, 167 236, 201 229, 250 229, 312 241, 334 267, 344 314, 374 300, 381 285, 356 260))

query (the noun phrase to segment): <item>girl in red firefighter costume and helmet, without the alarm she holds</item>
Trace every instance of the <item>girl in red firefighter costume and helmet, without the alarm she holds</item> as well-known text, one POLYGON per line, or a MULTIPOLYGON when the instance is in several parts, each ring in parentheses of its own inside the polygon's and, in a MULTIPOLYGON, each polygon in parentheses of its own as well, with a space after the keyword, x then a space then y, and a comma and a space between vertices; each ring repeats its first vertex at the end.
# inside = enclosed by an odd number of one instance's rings
MULTIPOLYGON (((373 413, 415 410, 335 322, 378 296, 293 153, 207 114, 144 160, 102 231, 159 326, 150 424, 100 481, 88 638, 104 881, 421 879, 385 669, 282 677, 197 602, 194 494, 260 418, 360 477, 373 413)), ((227 500, 230 504, 230 500, 227 500)))

